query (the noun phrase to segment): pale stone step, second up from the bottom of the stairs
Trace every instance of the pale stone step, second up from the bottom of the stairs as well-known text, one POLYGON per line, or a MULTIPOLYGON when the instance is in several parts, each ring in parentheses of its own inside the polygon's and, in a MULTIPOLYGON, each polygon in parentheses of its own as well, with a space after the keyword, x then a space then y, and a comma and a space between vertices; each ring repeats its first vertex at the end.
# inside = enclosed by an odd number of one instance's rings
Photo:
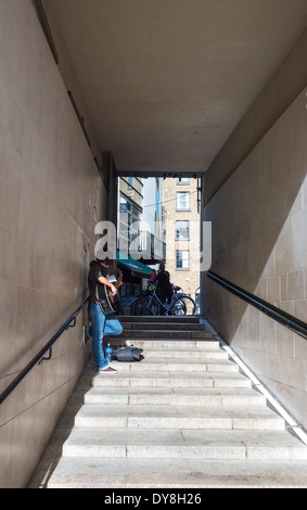
POLYGON ((75 429, 65 457, 307 460, 307 448, 285 431, 75 429))

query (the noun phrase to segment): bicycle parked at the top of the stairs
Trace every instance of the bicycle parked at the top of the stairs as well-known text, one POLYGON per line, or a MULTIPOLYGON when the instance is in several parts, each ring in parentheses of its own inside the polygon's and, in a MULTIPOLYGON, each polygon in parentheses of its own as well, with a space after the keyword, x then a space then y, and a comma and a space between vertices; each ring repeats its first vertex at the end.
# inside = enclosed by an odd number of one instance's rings
POLYGON ((141 295, 131 303, 131 315, 157 316, 157 315, 194 315, 195 303, 186 294, 172 294, 170 303, 162 303, 156 290, 151 295, 141 295), (162 311, 162 314, 159 314, 162 311))

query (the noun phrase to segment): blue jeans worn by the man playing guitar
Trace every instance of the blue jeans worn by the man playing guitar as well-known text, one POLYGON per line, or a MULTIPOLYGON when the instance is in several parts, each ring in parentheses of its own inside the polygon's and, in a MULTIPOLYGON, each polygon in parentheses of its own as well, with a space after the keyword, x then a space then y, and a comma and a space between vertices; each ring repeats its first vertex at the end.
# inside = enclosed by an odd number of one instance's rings
POLYGON ((93 357, 99 370, 107 367, 107 361, 103 352, 103 337, 110 334, 117 335, 123 331, 123 326, 114 314, 104 315, 99 305, 89 305, 89 316, 91 328, 89 335, 92 337, 93 357))

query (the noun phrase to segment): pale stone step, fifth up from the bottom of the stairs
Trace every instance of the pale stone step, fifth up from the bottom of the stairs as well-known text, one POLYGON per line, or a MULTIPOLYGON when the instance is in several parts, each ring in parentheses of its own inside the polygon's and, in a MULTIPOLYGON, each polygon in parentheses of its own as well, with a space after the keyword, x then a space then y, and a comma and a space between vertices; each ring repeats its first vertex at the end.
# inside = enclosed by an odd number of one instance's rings
POLYGON ((123 371, 110 378, 97 374, 94 387, 251 387, 251 381, 239 372, 148 372, 123 371))

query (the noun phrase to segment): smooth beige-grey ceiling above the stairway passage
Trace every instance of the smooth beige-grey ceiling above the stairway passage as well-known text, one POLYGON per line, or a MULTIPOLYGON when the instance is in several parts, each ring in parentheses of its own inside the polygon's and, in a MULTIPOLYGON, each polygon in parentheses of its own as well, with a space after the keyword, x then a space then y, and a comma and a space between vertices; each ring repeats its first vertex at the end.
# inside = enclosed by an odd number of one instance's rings
POLYGON ((307 21, 307 0, 46 3, 102 150, 136 173, 206 170, 307 21))

